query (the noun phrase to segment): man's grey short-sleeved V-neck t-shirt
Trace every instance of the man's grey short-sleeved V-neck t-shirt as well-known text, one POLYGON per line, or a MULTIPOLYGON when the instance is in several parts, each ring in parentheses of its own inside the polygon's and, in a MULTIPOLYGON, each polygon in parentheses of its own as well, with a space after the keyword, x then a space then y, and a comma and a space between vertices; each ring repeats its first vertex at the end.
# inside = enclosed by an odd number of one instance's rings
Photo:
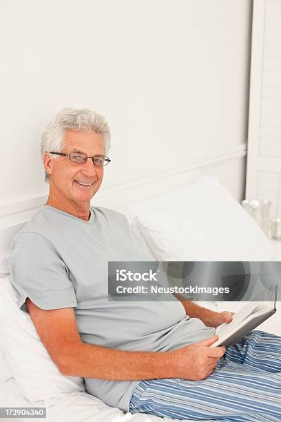
MULTIPOLYGON (((84 221, 43 205, 12 239, 8 261, 21 310, 27 312, 27 297, 45 310, 73 307, 85 343, 163 352, 214 334, 214 328, 189 319, 174 297, 108 300, 108 261, 154 261, 119 212, 91 207, 84 221)), ((90 394, 125 412, 138 382, 85 379, 90 394)))

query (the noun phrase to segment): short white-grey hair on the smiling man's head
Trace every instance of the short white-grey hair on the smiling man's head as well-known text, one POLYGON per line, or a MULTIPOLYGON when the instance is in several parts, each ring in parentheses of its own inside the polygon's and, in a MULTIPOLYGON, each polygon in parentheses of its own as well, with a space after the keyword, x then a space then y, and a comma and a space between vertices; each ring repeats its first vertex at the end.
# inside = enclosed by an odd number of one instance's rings
MULTIPOLYGON (((63 140, 67 130, 91 130, 101 135, 105 145, 105 155, 110 150, 111 136, 110 127, 105 118, 87 108, 80 110, 74 108, 63 108, 50 121, 41 138, 41 157, 44 159, 45 152, 61 152, 63 140)), ((56 159, 58 155, 53 155, 56 159)), ((50 183, 49 174, 45 170, 45 182, 50 183)))

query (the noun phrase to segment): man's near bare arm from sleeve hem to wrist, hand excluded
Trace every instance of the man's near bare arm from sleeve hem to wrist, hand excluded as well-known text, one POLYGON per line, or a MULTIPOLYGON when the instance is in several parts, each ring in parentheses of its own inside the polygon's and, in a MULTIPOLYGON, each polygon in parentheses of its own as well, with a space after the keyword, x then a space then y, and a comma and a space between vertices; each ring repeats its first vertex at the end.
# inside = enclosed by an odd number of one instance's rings
POLYGON ((132 353, 83 343, 73 308, 42 310, 30 299, 26 306, 41 341, 64 375, 112 380, 168 375, 168 354, 132 353))

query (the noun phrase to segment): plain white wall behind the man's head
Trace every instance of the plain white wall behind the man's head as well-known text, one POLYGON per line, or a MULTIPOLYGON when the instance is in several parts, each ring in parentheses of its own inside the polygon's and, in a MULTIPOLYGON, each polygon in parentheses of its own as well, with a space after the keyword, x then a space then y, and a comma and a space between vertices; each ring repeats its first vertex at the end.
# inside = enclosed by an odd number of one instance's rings
MULTIPOLYGON (((110 122, 105 187, 247 141, 251 0, 2 0, 0 16, 0 205, 47 194, 39 140, 65 106, 110 122)), ((244 159, 221 174, 242 199, 244 159)))

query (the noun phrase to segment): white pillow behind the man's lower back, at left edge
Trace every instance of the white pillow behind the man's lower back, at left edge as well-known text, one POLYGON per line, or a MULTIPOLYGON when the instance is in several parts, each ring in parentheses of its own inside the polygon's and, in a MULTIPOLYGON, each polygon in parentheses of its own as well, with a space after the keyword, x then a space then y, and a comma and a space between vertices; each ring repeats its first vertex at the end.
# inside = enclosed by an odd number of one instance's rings
POLYGON ((30 315, 19 310, 10 277, 0 279, 0 345, 19 390, 30 401, 85 391, 81 377, 59 372, 41 342, 30 315))

